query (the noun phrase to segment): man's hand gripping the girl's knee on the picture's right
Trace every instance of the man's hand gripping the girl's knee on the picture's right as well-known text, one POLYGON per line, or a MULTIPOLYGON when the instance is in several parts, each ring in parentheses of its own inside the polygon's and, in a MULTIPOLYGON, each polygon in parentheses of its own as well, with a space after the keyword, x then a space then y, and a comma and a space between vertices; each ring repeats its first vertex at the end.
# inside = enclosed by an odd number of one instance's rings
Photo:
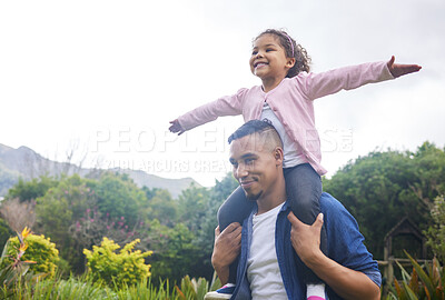
POLYGON ((305 224, 294 212, 289 212, 287 219, 291 223, 290 241, 298 257, 308 264, 316 260, 323 252, 319 248, 323 227, 323 213, 319 213, 312 226, 305 224))

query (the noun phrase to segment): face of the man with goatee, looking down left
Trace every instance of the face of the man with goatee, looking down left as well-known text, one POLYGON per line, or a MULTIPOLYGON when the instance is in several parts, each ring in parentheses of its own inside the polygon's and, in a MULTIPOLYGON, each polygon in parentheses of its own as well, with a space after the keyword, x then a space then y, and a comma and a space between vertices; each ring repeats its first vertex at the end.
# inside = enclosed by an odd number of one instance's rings
POLYGON ((281 162, 275 147, 268 146, 258 133, 234 140, 230 144, 234 176, 249 200, 267 196, 278 178, 281 162))

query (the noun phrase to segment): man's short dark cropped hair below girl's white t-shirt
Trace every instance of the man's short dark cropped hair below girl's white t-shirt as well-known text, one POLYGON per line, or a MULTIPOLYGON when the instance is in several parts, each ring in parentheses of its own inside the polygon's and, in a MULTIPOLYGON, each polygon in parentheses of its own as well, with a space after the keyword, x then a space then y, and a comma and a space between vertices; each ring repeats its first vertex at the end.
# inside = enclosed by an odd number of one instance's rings
POLYGON ((250 120, 238 128, 234 133, 230 134, 228 142, 231 143, 234 140, 238 140, 246 136, 258 133, 264 141, 271 139, 275 146, 283 148, 283 141, 269 120, 250 120))

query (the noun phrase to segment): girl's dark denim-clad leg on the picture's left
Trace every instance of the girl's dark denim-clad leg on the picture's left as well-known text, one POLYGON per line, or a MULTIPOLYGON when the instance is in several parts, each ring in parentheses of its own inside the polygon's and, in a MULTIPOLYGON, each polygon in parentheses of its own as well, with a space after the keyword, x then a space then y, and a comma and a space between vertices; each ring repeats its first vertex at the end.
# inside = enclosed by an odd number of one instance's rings
MULTIPOLYGON (((245 191, 238 187, 218 210, 219 230, 225 230, 233 222, 243 224, 243 220, 249 217, 254 206, 255 202, 247 200, 245 191)), ((239 258, 230 264, 229 283, 236 283, 238 261, 239 258)))

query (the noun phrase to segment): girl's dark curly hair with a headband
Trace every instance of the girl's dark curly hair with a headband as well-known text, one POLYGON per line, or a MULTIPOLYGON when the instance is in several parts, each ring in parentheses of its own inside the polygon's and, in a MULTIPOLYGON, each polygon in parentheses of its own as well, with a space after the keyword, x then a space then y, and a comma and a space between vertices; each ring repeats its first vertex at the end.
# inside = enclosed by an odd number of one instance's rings
POLYGON ((297 43, 293 38, 290 38, 289 34, 287 34, 286 31, 284 30, 277 30, 277 29, 266 29, 261 33, 258 34, 254 39, 254 42, 258 40, 260 37, 264 34, 273 34, 277 37, 280 46, 283 49, 285 49, 286 57, 288 58, 295 58, 295 64, 293 68, 289 69, 287 72, 287 78, 293 78, 297 76, 301 71, 309 72, 310 71, 310 57, 307 54, 307 51, 305 48, 301 47, 301 44, 297 43), (290 42, 293 44, 290 44, 290 42), (294 49, 294 54, 293 54, 293 49, 294 49))

